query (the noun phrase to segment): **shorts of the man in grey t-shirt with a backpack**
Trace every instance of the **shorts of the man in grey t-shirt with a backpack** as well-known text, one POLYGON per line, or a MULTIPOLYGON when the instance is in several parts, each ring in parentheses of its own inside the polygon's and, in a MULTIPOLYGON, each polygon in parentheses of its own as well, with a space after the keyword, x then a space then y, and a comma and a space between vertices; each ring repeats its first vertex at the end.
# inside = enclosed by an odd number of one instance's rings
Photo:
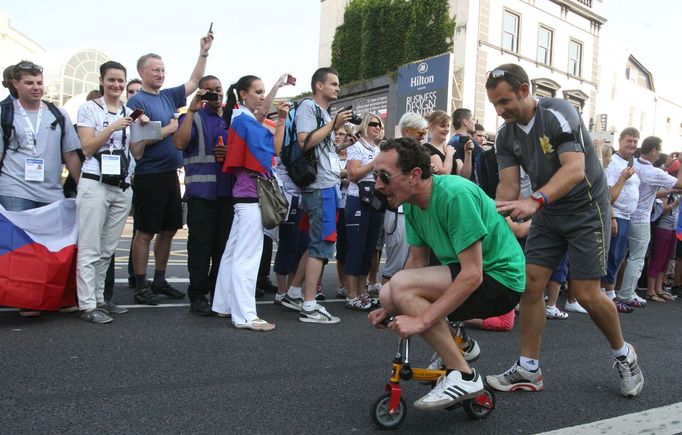
POLYGON ((308 255, 321 260, 333 259, 339 205, 336 187, 303 192, 301 205, 308 215, 308 255))

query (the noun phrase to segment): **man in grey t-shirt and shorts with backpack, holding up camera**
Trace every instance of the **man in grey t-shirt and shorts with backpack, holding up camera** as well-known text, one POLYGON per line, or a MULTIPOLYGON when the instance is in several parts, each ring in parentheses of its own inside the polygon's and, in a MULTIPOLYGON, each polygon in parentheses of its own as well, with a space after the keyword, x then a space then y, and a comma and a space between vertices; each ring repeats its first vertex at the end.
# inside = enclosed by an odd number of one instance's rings
POLYGON ((301 205, 310 223, 310 245, 301 261, 305 262, 305 290, 291 286, 282 305, 300 311, 299 320, 307 323, 333 324, 334 317, 315 301, 315 288, 325 260, 334 256, 336 209, 341 184, 339 159, 331 140, 332 131, 351 118, 351 111, 340 111, 334 121, 327 110, 338 98, 339 76, 333 68, 319 68, 311 80, 312 100, 305 100, 296 110, 298 143, 303 151, 315 150, 317 177, 302 188, 301 205), (321 119, 320 119, 321 117, 321 119))

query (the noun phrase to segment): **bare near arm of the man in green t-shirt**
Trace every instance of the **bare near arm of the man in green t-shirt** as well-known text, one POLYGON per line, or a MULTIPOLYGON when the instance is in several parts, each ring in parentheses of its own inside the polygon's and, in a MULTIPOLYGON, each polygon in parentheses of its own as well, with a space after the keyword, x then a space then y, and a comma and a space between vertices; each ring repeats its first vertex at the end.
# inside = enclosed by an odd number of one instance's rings
POLYGON ((456 310, 483 282, 483 248, 480 240, 460 252, 461 270, 455 280, 422 314, 425 330, 456 310))

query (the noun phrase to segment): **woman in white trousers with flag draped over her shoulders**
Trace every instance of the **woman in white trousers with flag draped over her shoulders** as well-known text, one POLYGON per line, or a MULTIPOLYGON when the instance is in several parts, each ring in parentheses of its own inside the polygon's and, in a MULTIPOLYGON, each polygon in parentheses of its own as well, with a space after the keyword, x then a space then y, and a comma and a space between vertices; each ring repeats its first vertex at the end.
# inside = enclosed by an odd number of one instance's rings
MULTIPOLYGON (((273 91, 281 86, 281 80, 273 91)), ((223 170, 234 174, 232 200, 234 220, 230 238, 218 269, 213 311, 232 317, 236 328, 272 331, 273 323, 256 313, 256 280, 263 250, 263 223, 258 204, 256 177, 272 177, 272 158, 284 140, 289 104, 278 108, 277 128, 263 125, 271 92, 266 98, 263 82, 256 76, 240 78, 227 90, 223 118, 229 128, 223 170)))

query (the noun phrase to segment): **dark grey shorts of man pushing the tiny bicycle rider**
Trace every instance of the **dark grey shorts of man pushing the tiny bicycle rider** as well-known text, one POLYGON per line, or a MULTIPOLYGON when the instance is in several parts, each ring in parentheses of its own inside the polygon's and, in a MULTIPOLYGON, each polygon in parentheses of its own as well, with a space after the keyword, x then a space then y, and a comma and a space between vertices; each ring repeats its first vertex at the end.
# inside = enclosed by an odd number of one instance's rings
POLYGON ((606 275, 611 239, 608 196, 572 210, 570 215, 533 215, 526 240, 526 264, 554 270, 568 251, 571 279, 592 280, 606 275))

